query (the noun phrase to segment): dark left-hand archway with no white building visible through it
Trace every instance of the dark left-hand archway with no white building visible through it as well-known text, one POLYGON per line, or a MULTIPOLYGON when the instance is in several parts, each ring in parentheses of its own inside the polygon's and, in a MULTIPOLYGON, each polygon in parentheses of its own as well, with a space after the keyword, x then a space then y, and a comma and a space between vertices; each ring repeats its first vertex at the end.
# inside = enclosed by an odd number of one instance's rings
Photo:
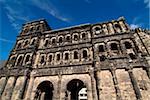
POLYGON ((52 100, 53 84, 50 81, 44 81, 37 87, 34 100, 52 100))

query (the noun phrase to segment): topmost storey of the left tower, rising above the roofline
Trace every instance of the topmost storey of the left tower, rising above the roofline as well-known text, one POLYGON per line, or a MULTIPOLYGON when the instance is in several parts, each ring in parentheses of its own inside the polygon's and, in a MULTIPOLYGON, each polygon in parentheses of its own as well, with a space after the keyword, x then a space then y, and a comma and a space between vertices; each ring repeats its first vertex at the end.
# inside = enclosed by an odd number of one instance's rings
POLYGON ((20 36, 29 35, 35 32, 44 32, 51 30, 45 19, 31 21, 23 24, 20 36))

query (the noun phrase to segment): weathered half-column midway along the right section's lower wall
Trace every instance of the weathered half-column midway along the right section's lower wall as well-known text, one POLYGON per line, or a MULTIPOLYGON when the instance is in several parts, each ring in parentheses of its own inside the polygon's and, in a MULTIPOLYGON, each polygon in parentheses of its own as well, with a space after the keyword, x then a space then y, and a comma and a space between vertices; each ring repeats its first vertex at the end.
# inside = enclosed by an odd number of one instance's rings
POLYGON ((122 100, 121 98, 121 92, 118 86, 118 81, 117 81, 117 77, 116 77, 116 73, 115 73, 115 69, 111 69, 111 74, 112 74, 112 78, 113 78, 113 82, 114 82, 114 86, 115 86, 115 90, 116 90, 116 94, 117 94, 117 100, 122 100))

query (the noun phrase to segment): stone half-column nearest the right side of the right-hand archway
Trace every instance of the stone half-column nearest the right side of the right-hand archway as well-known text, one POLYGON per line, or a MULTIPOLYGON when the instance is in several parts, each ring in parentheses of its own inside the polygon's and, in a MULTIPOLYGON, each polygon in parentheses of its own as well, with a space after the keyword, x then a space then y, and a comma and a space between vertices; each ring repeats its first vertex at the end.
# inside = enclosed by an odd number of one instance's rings
POLYGON ((92 85, 92 96, 93 96, 92 100, 98 100, 97 99, 97 91, 96 91, 96 81, 95 81, 95 78, 94 78, 93 69, 89 72, 89 74, 90 74, 90 77, 91 77, 91 85, 92 85))

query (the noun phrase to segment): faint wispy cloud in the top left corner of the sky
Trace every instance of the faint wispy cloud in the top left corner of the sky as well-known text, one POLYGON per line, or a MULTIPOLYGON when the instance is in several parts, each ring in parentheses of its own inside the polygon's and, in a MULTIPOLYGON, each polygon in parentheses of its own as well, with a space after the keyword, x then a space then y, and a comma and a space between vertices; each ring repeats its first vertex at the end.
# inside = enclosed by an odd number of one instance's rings
POLYGON ((4 1, 4 9, 5 13, 16 31, 19 31, 21 28, 21 21, 25 22, 28 21, 29 18, 24 13, 23 4, 19 1, 10 2, 4 1), (19 9, 20 8, 20 9, 19 9))

